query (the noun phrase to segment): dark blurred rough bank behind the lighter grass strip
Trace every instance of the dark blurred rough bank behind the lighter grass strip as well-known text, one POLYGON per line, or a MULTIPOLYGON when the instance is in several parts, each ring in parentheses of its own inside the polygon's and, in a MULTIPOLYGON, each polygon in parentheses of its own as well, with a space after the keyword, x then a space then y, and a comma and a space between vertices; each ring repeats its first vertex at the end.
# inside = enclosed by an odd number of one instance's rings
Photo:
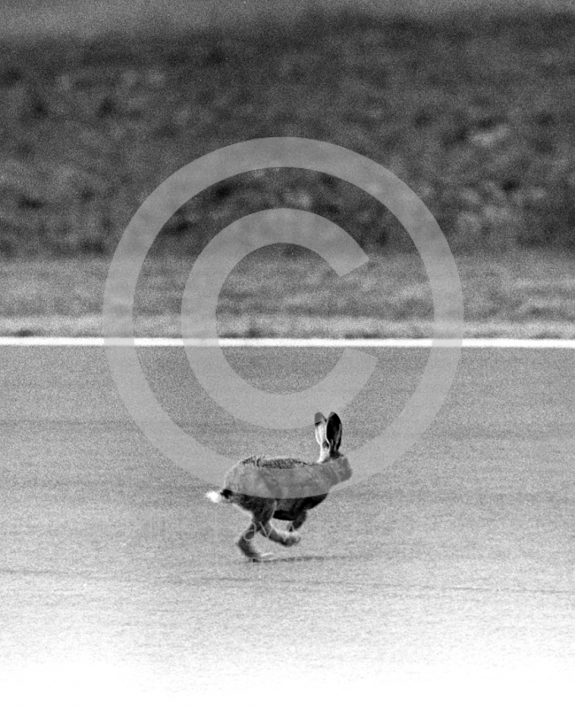
MULTIPOLYGON (((316 13, 0 47, 0 255, 110 256, 145 196, 224 145, 300 136, 416 191, 457 253, 575 245, 575 16, 316 13)), ((318 173, 250 173, 184 205, 188 255, 243 214, 318 212, 410 250, 372 198, 318 173)))

